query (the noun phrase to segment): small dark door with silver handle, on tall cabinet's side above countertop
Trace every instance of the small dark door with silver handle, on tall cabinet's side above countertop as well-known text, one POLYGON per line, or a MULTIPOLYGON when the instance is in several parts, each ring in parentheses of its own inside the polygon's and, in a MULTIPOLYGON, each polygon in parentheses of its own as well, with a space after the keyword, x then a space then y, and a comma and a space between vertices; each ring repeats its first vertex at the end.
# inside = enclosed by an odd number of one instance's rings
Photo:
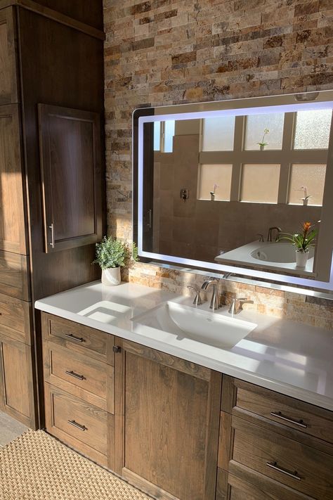
POLYGON ((100 115, 39 104, 45 251, 102 236, 100 115))

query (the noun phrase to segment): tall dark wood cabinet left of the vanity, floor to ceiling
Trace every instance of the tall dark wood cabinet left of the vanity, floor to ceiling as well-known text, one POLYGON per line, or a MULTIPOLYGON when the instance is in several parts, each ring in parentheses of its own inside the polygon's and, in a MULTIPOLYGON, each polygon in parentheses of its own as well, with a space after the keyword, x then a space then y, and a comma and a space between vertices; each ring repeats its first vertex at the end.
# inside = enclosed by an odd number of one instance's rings
POLYGON ((99 277, 102 0, 0 0, 0 410, 43 425, 34 301, 99 277))

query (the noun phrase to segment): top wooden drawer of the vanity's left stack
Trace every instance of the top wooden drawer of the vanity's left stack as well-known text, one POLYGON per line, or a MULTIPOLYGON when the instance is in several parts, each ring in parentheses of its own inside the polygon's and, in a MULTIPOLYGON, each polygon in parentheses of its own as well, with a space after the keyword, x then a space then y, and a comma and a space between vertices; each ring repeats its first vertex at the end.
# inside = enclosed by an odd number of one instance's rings
POLYGON ((45 340, 113 366, 113 335, 47 313, 41 314, 41 328, 45 340))

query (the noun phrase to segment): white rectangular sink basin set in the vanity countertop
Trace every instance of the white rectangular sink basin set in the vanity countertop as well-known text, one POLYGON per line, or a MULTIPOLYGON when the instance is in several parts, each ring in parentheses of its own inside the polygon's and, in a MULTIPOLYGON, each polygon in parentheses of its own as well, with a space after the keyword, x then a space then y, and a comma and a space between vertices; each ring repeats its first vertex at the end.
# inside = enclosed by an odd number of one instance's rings
POLYGON ((257 326, 256 323, 176 302, 164 302, 131 320, 133 323, 171 333, 179 339, 190 338, 221 349, 231 349, 257 326))

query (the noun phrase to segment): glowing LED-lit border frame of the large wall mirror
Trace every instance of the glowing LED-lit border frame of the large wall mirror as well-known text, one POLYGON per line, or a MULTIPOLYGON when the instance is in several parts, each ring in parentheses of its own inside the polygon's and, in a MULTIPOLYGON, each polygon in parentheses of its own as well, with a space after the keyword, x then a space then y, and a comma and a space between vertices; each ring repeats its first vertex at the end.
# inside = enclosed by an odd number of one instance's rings
MULTIPOLYGON (((325 191, 322 203, 322 215, 320 231, 318 233, 318 243, 315 252, 314 274, 315 278, 299 277, 292 274, 278 274, 272 271, 263 271, 259 269, 247 269, 233 264, 217 264, 211 262, 202 262, 194 259, 183 259, 181 257, 155 254, 141 250, 141 235, 138 233, 138 215, 139 205, 142 203, 141 184, 139 179, 140 168, 143 165, 143 154, 150 148, 150 141, 143 141, 143 123, 155 122, 176 118, 178 120, 189 120, 204 117, 207 112, 209 115, 221 115, 221 111, 226 113, 233 112, 238 115, 244 115, 244 112, 259 108, 276 107, 278 110, 303 110, 307 109, 309 103, 311 108, 327 108, 327 104, 333 108, 333 91, 325 90, 318 92, 307 92, 303 94, 282 94, 278 96, 263 96, 254 98, 230 99, 226 101, 213 101, 203 103, 190 103, 178 105, 158 106, 156 108, 138 108, 133 112, 133 241, 139 248, 139 257, 141 262, 159 265, 161 267, 175 267, 186 271, 204 272, 205 274, 214 273, 218 276, 226 275, 238 276, 245 281, 252 280, 260 283, 267 283, 273 288, 280 288, 280 283, 287 283, 289 286, 302 287, 305 289, 333 290, 333 266, 332 253, 327 252, 326 248, 333 250, 333 231, 331 220, 333 215, 333 196, 330 194, 333 190, 333 127, 331 124, 331 134, 327 151, 327 170, 325 177, 325 191), (287 109, 285 109, 287 107, 287 109), (145 149, 146 148, 146 149, 145 149), (185 269, 184 269, 185 265, 185 269)), ((332 117, 333 122, 333 117, 332 117)))

